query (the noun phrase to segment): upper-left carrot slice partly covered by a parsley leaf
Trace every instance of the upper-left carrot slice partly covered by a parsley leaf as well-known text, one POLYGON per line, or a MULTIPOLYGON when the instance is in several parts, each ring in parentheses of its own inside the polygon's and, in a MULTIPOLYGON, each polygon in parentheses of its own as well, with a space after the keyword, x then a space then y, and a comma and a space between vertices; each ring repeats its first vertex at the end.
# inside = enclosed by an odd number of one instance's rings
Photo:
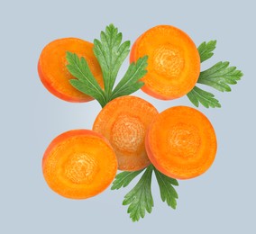
POLYGON ((83 103, 93 100, 91 96, 79 92, 69 84, 69 79, 75 77, 66 67, 67 51, 76 53, 78 57, 84 57, 98 84, 103 86, 103 76, 93 52, 93 44, 78 38, 53 40, 42 49, 38 62, 38 73, 42 84, 51 94, 68 102, 83 103))

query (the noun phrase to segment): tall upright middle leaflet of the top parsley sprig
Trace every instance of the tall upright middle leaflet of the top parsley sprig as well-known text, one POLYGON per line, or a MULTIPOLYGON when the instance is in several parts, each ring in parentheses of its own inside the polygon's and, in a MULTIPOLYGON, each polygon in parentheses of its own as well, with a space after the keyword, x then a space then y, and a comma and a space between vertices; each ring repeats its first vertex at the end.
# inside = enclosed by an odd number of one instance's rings
POLYGON ((110 24, 101 31, 101 41, 94 40, 94 53, 103 72, 107 97, 110 97, 117 73, 130 52, 130 41, 121 44, 122 38, 122 33, 110 24))

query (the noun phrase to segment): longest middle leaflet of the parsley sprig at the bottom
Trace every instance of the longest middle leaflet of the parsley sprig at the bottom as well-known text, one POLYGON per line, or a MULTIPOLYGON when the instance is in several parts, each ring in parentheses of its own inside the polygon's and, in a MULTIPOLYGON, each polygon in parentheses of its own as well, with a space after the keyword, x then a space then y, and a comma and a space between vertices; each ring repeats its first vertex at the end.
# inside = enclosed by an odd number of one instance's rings
POLYGON ((133 189, 124 196, 123 205, 128 205, 127 212, 133 221, 144 218, 146 211, 151 213, 154 206, 151 194, 151 175, 153 166, 148 166, 142 178, 133 189))

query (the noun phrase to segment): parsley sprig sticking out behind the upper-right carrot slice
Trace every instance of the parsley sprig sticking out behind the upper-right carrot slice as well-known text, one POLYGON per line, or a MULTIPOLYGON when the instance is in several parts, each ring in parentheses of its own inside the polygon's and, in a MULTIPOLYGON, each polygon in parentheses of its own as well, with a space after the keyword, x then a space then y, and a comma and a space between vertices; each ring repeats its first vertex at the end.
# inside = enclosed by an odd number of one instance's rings
MULTIPOLYGON (((216 40, 210 40, 206 43, 203 42, 199 45, 198 52, 200 55, 201 63, 211 58, 214 55, 216 47, 216 40)), ((213 67, 206 69, 200 73, 197 80, 198 84, 208 85, 221 92, 230 92, 230 85, 237 84, 237 81, 242 77, 242 71, 237 70, 236 67, 230 67, 229 62, 218 62, 213 67)), ((188 99, 196 105, 199 103, 208 107, 221 107, 221 104, 215 95, 197 87, 197 85, 187 94, 188 99)))

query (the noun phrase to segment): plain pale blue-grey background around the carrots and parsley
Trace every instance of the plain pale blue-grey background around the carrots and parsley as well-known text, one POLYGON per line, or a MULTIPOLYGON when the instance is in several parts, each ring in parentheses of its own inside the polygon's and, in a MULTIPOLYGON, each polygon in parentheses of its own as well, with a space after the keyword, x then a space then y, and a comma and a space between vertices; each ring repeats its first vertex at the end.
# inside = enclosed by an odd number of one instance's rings
MULTIPOLYGON (((1 1, 0 11, 0 233, 256 233, 253 1, 1 1), (90 129, 100 110, 96 102, 61 101, 41 85, 41 49, 62 37, 93 40, 108 23, 132 43, 157 24, 177 26, 197 45, 216 39, 215 56, 204 67, 229 60, 244 73, 231 93, 213 90, 221 109, 200 108, 218 138, 214 165, 205 175, 179 182, 176 211, 160 201, 153 179, 155 206, 137 223, 122 206, 132 186, 73 201, 52 193, 41 175, 50 140, 66 130, 90 129)), ((127 66, 128 60, 121 75, 127 66)), ((187 97, 163 102, 136 95, 159 111, 192 106, 187 97)))

